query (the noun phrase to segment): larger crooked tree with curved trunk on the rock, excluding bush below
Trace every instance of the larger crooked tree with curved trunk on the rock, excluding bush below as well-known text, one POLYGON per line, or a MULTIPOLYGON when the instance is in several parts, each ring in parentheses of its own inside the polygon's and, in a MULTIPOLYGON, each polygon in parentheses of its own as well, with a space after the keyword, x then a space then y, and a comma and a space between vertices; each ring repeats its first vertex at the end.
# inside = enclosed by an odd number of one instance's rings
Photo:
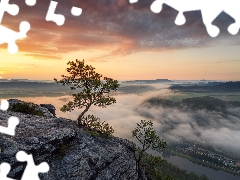
POLYGON ((84 109, 78 116, 78 124, 89 108, 94 106, 106 107, 116 103, 116 99, 110 96, 111 91, 116 91, 119 87, 118 81, 108 77, 103 77, 95 72, 95 68, 91 65, 84 64, 83 61, 69 61, 70 67, 67 68, 69 76, 62 75, 61 80, 54 78, 56 83, 70 86, 71 90, 80 89, 78 93, 72 94, 73 101, 68 102, 60 110, 63 112, 71 112, 75 108, 84 109))

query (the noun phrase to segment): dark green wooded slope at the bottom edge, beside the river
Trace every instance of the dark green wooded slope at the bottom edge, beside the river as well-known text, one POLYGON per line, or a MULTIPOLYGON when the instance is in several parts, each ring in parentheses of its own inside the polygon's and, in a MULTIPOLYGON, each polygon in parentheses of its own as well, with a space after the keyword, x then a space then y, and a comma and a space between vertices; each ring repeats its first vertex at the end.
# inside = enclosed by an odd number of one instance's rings
POLYGON ((166 160, 154 162, 155 158, 152 155, 144 153, 142 159, 143 164, 149 164, 145 167, 144 171, 151 176, 152 180, 208 180, 205 175, 199 176, 194 172, 187 173, 186 170, 181 170, 166 160))

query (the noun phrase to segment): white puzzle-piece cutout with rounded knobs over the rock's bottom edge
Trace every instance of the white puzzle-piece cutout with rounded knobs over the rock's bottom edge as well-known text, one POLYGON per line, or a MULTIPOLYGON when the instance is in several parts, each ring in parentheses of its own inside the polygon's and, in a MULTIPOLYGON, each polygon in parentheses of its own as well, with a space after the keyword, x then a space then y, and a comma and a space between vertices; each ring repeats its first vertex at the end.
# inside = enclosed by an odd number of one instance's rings
POLYGON ((25 153, 24 151, 19 151, 16 154, 16 158, 21 162, 27 161, 27 166, 24 170, 21 180, 40 180, 38 173, 46 173, 49 171, 48 163, 42 162, 36 166, 33 161, 33 156, 31 154, 25 153))

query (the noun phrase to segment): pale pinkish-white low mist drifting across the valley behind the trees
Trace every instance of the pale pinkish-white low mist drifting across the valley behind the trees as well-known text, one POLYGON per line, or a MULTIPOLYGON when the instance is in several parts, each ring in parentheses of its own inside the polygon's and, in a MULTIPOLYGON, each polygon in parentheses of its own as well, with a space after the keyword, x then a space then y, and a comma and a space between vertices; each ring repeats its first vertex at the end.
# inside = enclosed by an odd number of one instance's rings
MULTIPOLYGON (((139 88, 139 87, 138 87, 139 88)), ((132 91, 132 90, 131 90, 132 91)), ((151 119, 154 128, 168 143, 194 141, 206 143, 218 150, 234 155, 240 152, 240 108, 228 108, 228 113, 215 111, 182 110, 179 108, 162 108, 146 106, 145 101, 152 97, 173 96, 167 85, 154 85, 147 92, 114 95, 117 103, 107 108, 91 107, 87 114, 94 114, 113 126, 115 136, 133 140, 132 130, 141 119, 151 119)), ((56 107, 58 117, 77 119, 81 110, 63 113, 59 109, 71 99, 64 97, 21 98, 34 103, 51 103, 56 107)))

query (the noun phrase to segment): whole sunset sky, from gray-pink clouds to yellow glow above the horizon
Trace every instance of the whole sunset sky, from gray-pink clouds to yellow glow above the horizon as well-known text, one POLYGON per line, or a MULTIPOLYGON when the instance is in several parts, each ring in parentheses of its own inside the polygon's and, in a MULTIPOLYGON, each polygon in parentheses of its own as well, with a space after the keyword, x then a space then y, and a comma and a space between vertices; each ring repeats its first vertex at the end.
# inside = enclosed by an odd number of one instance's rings
MULTIPOLYGON (((222 12, 213 24, 220 28, 216 38, 208 35, 201 11, 184 13, 186 23, 175 25, 177 11, 167 5, 159 14, 150 10, 153 0, 56 0, 56 13, 64 25, 45 20, 49 0, 28 7, 24 0, 17 16, 4 14, 1 25, 19 31, 21 21, 31 29, 17 41, 18 53, 11 55, 0 45, 0 77, 52 80, 66 73, 67 62, 84 59, 98 73, 117 80, 240 79, 240 34, 227 27, 234 22, 222 12), (82 15, 71 15, 73 6, 82 15)), ((213 7, 214 8, 214 7, 213 7)))

